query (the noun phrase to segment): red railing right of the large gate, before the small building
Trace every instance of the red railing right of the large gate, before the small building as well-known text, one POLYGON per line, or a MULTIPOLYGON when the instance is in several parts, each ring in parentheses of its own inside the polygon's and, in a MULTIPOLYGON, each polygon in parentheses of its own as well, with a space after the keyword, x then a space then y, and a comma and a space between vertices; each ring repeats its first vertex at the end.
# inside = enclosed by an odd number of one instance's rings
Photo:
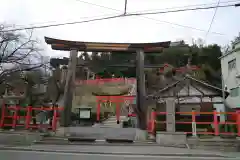
MULTIPOLYGON (((155 128, 156 125, 158 124, 166 124, 166 121, 157 121, 156 120, 156 116, 157 115, 166 115, 167 112, 152 112, 151 114, 151 118, 150 118, 150 122, 149 122, 149 132, 152 134, 155 134, 155 128)), ((186 134, 205 134, 205 135, 215 135, 215 136, 219 136, 221 135, 234 135, 235 133, 232 132, 220 132, 219 130, 219 125, 224 125, 224 124, 232 124, 232 125, 236 125, 237 128, 237 136, 240 136, 240 112, 217 112, 217 111, 213 111, 213 112, 196 112, 196 111, 192 111, 192 112, 176 112, 176 114, 179 115, 191 115, 191 121, 176 121, 175 124, 191 124, 192 125, 192 131, 191 132, 185 132, 186 134), (218 115, 234 115, 236 116, 236 120, 234 122, 219 122, 218 120, 218 115), (196 115, 200 115, 200 119, 201 119, 201 115, 211 115, 213 116, 213 121, 211 122, 201 122, 201 121, 197 121, 197 116, 196 115), (213 132, 197 132, 197 125, 199 124, 209 124, 209 125, 213 125, 214 127, 214 131, 213 132)), ((203 118, 203 117, 202 117, 203 118)))

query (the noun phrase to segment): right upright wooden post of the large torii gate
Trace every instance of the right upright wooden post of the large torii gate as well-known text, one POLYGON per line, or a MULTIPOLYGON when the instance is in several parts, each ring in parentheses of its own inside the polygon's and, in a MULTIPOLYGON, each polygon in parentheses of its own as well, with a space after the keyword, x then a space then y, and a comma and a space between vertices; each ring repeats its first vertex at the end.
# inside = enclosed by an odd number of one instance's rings
POLYGON ((145 76, 144 76, 144 51, 138 50, 136 55, 136 77, 137 77, 137 118, 138 128, 147 129, 147 108, 145 106, 145 76))

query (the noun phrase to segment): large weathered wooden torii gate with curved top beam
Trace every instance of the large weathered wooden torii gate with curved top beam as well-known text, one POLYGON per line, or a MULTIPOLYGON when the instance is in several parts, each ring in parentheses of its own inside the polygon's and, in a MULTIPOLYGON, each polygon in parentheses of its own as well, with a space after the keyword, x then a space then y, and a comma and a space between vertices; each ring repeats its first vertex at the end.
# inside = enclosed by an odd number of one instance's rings
POLYGON ((77 64, 78 51, 86 52, 125 52, 136 53, 136 75, 137 75, 137 118, 138 128, 146 130, 147 128, 147 106, 145 104, 145 77, 144 77, 144 53, 160 53, 164 48, 168 48, 170 41, 156 43, 100 43, 100 42, 79 42, 53 39, 45 37, 45 42, 51 45, 54 50, 70 51, 68 64, 68 73, 66 85, 64 88, 64 112, 60 120, 61 126, 70 125, 70 114, 73 99, 73 90, 75 83, 75 71, 77 64))

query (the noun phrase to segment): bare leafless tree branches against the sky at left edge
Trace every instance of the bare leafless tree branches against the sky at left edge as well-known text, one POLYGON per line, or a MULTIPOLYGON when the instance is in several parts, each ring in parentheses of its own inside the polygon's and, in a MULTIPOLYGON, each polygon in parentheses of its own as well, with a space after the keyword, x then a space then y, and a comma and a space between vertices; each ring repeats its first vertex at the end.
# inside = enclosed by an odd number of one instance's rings
POLYGON ((30 71, 43 66, 38 41, 30 32, 4 32, 6 25, 0 25, 0 84, 6 76, 20 71, 30 71))

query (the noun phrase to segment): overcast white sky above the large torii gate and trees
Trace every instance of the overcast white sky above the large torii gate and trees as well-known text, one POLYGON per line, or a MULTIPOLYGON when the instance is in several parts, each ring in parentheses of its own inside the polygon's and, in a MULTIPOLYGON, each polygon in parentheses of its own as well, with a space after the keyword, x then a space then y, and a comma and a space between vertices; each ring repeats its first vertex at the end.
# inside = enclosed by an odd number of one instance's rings
MULTIPOLYGON (((224 5, 230 4, 232 1, 221 0, 220 2, 224 5)), ((0 23, 15 24, 17 28, 29 26, 30 24, 64 23, 116 15, 124 9, 124 0, 0 0, 0 2, 0 23), (84 1, 113 9, 90 5, 83 3, 84 1)), ((127 11, 162 10, 186 5, 217 4, 217 2, 218 0, 128 0, 127 11)), ((240 3, 240 0, 238 3, 240 3)), ((192 39, 202 38, 206 40, 207 44, 226 45, 240 31, 240 7, 219 8, 211 31, 206 38, 206 31, 210 26, 214 11, 215 9, 210 9, 144 17, 134 16, 51 27, 35 30, 34 36, 38 37, 42 42, 44 36, 66 40, 99 42, 185 40, 190 43, 192 39)), ((52 51, 49 46, 43 44, 46 55, 68 56, 66 52, 52 51)))

